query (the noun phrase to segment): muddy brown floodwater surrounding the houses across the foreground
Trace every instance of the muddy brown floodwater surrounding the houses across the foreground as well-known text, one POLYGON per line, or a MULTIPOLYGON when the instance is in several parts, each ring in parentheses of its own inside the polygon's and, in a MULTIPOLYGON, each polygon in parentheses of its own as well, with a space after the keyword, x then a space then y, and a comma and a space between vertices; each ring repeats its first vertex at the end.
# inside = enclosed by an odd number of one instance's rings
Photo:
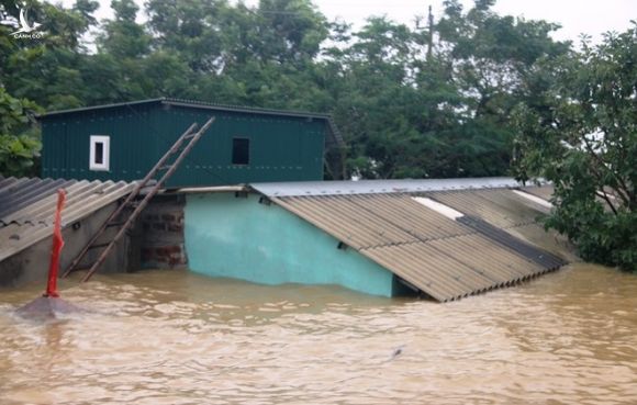
POLYGON ((637 404, 637 277, 574 265, 449 304, 148 271, 16 317, 0 404, 637 404))

